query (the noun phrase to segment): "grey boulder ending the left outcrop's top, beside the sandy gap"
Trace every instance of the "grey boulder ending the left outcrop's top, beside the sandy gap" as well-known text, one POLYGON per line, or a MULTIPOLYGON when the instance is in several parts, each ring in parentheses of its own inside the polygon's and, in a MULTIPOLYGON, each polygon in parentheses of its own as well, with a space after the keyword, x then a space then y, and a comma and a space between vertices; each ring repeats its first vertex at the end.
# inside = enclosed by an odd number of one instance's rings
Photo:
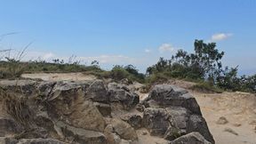
POLYGON ((124 109, 134 108, 140 102, 139 95, 135 92, 130 92, 130 90, 122 84, 108 84, 108 92, 109 101, 120 102, 124 106, 124 109))

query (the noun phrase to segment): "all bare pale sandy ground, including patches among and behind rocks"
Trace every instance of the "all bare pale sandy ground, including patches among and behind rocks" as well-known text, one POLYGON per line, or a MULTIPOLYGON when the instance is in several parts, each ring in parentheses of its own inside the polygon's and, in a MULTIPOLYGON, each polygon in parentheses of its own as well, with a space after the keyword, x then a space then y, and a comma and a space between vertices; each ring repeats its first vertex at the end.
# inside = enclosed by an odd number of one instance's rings
MULTIPOLYGON (((81 73, 69 74, 24 74, 23 77, 41 78, 43 80, 93 80, 95 76, 85 76, 81 73)), ((185 89, 193 83, 172 81, 185 89)), ((209 126, 210 132, 216 141, 216 144, 256 144, 256 96, 244 92, 223 92, 223 93, 192 93, 202 110, 203 116, 209 126), (224 116, 227 124, 217 124, 220 116, 224 116), (226 132, 225 129, 233 132, 226 132), (236 133, 236 134, 234 134, 236 133)), ((148 97, 148 93, 140 93, 140 100, 148 97)), ((140 135, 140 143, 163 142, 159 138, 153 138, 148 134, 140 135)))

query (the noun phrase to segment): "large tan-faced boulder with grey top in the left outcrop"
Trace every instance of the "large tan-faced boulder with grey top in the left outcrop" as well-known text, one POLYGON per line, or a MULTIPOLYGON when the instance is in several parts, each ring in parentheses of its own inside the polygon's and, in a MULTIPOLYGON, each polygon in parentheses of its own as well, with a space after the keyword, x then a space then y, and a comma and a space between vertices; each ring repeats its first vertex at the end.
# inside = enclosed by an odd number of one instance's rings
POLYGON ((81 84, 58 82, 46 101, 45 107, 53 119, 92 131, 104 131, 103 116, 91 100, 85 100, 81 84))

